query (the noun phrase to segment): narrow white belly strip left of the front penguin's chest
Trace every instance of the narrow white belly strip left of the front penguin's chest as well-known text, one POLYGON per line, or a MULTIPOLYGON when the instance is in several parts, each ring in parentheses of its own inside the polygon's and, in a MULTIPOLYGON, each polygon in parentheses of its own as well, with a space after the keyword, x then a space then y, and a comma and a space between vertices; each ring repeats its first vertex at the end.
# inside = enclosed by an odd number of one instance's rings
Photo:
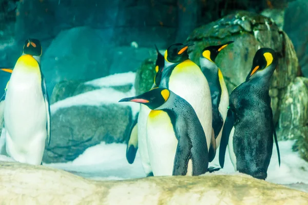
POLYGON ((150 111, 151 110, 147 106, 140 104, 138 115, 138 150, 142 167, 146 175, 152 172, 146 141, 146 122, 150 111))

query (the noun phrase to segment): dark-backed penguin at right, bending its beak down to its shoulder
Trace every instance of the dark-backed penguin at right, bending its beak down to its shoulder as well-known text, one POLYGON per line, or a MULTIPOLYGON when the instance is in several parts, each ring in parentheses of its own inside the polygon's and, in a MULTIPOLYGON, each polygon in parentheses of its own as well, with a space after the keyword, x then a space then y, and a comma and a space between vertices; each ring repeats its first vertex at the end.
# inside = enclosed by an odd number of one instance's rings
POLYGON ((273 135, 280 165, 271 98, 268 94, 270 79, 277 64, 277 54, 273 49, 259 49, 245 82, 230 94, 219 152, 222 168, 228 145, 236 171, 265 180, 273 151, 273 135))

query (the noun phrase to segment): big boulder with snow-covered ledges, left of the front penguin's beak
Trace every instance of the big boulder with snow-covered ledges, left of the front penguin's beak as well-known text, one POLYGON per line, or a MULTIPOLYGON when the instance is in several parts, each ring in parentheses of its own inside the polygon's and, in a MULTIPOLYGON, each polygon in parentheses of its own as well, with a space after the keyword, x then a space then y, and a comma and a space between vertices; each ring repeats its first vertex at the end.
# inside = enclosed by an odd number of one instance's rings
POLYGON ((63 87, 55 87, 50 107, 52 138, 43 161, 74 160, 101 141, 126 142, 139 106, 118 101, 135 95, 134 77, 130 72, 82 83, 63 82, 63 87))

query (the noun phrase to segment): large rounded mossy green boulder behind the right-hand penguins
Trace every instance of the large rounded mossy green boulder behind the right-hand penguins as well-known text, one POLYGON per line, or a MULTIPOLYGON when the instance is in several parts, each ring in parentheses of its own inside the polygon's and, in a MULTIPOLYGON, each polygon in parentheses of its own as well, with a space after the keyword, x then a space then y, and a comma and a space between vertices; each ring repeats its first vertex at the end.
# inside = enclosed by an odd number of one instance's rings
POLYGON ((229 93, 245 80, 258 48, 269 47, 278 53, 278 67, 271 79, 271 90, 276 89, 271 93, 278 91, 276 97, 271 96, 276 123, 279 117, 280 91, 286 89, 298 71, 298 60, 291 40, 271 19, 240 11, 195 29, 187 38, 187 42, 195 44, 189 48, 189 56, 200 65, 199 57, 203 48, 228 40, 234 40, 235 43, 220 52, 216 63, 224 75, 229 93))

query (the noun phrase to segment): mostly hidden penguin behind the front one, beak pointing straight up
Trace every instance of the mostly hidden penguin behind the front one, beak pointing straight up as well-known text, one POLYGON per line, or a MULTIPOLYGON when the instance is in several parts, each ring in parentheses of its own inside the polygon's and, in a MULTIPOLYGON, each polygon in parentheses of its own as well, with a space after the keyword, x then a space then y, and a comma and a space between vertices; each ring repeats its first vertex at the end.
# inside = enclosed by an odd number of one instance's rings
MULTIPOLYGON (((155 48, 157 52, 157 59, 155 64, 156 75, 153 79, 152 88, 158 87, 158 85, 160 84, 162 70, 165 63, 165 58, 159 52, 156 45, 155 48)), ((132 129, 130 131, 130 137, 126 150, 126 159, 128 163, 133 163, 136 157, 136 152, 139 149, 142 167, 146 176, 153 176, 146 144, 146 121, 150 111, 151 110, 147 106, 140 104, 139 113, 137 114, 136 119, 134 120, 134 123, 131 127, 132 129)))

